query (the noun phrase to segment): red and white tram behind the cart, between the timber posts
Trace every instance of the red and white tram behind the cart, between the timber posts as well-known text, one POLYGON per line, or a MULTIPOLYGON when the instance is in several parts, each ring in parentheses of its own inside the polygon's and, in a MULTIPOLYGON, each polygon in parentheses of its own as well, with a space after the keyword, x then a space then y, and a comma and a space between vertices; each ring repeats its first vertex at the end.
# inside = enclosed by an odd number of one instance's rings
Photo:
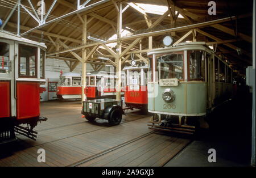
MULTIPOLYGON (((84 90, 86 99, 115 98, 116 80, 115 73, 94 71, 86 74, 86 88, 84 90)), ((122 86, 124 86, 124 81, 125 77, 122 75, 122 86)), ((122 95, 124 95, 123 89, 121 90, 122 95)))

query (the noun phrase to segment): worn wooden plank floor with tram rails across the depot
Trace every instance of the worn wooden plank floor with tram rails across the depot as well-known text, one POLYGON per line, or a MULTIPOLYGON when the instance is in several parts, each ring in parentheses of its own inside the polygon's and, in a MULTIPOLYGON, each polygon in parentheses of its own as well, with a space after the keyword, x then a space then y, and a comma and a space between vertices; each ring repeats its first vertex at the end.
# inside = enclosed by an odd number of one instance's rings
MULTIPOLYGON (((41 113, 48 120, 36 127, 38 139, 17 135, 19 139, 10 149, 13 151, 0 159, 0 166, 73 166, 152 132, 147 128, 151 116, 129 112, 120 125, 110 126, 105 120, 90 123, 81 118, 80 102, 44 102, 41 113), (46 163, 38 163, 38 149, 46 150, 46 163)), ((188 142, 148 134, 79 166, 162 166, 188 142)))

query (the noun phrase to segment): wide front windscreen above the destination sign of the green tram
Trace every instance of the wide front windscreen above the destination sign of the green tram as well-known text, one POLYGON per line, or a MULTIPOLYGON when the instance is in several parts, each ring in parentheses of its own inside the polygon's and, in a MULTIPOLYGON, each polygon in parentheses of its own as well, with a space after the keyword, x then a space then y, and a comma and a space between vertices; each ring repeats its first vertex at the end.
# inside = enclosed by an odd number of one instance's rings
POLYGON ((160 79, 177 78, 183 80, 183 54, 172 53, 157 57, 160 79))

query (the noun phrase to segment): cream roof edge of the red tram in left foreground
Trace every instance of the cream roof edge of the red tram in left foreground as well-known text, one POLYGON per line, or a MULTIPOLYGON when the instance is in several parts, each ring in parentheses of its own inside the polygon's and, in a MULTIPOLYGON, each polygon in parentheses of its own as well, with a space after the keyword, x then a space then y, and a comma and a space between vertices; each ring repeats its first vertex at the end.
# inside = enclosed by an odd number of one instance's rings
POLYGON ((39 43, 39 42, 36 42, 36 41, 28 40, 28 39, 25 39, 23 37, 14 35, 13 33, 10 33, 10 32, 7 32, 7 31, 0 30, 0 39, 19 41, 19 42, 22 42, 22 43, 27 43, 28 45, 33 44, 33 45, 36 45, 36 46, 40 46, 41 48, 47 49, 47 46, 44 43, 39 43))

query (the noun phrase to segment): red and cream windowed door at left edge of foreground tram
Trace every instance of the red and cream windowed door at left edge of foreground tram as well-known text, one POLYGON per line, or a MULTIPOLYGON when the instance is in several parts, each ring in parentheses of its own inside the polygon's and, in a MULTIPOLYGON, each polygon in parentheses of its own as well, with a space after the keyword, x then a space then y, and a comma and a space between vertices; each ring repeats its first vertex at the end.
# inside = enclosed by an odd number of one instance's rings
POLYGON ((15 116, 14 41, 0 39, 0 119, 15 116))

